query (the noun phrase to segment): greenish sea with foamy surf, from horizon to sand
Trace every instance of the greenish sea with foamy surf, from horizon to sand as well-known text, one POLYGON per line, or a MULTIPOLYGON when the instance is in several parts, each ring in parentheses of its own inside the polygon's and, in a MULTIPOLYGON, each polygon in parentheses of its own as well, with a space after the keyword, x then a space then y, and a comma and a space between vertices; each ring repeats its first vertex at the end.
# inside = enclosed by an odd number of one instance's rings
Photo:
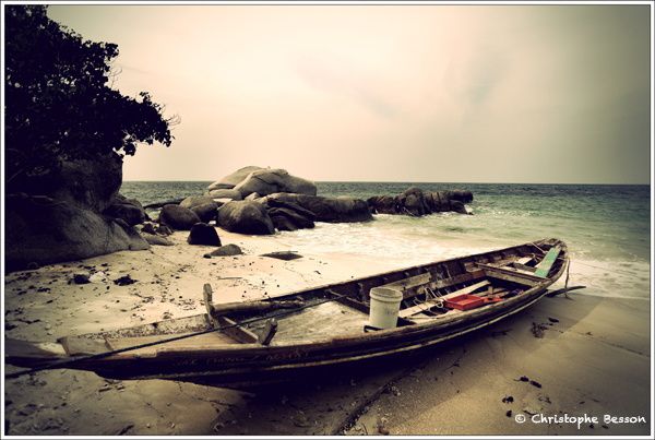
MULTIPOLYGON (((143 204, 202 194, 209 181, 127 181, 121 192, 143 204)), ((326 224, 277 233, 281 250, 349 253, 397 261, 398 267, 556 237, 569 246, 569 285, 587 295, 650 298, 651 188, 599 185, 318 182, 327 197, 465 189, 473 215, 374 215, 373 222, 326 224)))

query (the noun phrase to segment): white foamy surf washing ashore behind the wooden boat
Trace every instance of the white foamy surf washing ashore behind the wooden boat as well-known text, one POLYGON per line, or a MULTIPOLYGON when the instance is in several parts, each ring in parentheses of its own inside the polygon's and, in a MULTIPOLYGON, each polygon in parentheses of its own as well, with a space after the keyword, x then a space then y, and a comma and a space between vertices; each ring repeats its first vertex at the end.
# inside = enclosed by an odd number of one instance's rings
MULTIPOLYGON (((306 254, 348 253, 385 261, 396 261, 400 266, 427 263, 486 252, 493 249, 527 242, 524 234, 512 239, 512 228, 503 234, 489 234, 486 228, 476 230, 464 218, 449 222, 449 216, 409 218, 377 216, 369 223, 317 223, 313 229, 281 233, 274 239, 285 249, 306 254), (436 226, 440 224, 439 226, 436 226), (462 230, 457 230, 457 224, 462 230)), ((520 228, 520 227, 517 227, 520 228)), ((532 239, 546 238, 533 235, 532 239)), ((584 295, 604 297, 650 298, 650 262, 632 260, 594 260, 594 252, 571 250, 569 285, 585 285, 584 295)), ((585 243, 585 246, 590 246, 585 243)), ((592 243, 593 246, 593 243, 592 243)), ((563 285, 563 280, 558 284, 563 285)))

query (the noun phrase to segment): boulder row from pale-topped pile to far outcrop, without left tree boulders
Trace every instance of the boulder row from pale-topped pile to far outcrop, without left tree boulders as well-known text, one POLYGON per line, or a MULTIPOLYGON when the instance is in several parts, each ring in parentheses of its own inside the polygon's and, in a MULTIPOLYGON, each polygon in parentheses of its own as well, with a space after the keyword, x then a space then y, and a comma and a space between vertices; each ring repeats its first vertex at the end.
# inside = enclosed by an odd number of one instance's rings
MULTIPOLYGON (((191 230, 189 242, 212 245, 216 239, 196 240, 194 231, 217 225, 248 235, 270 235, 275 230, 313 228, 315 222, 367 222, 372 214, 413 216, 455 211, 467 214, 469 191, 424 192, 410 188, 398 195, 373 197, 367 201, 347 197, 317 195, 317 186, 284 169, 249 166, 210 185, 203 195, 179 203, 159 203, 158 223, 172 229, 191 230)), ((199 233, 200 234, 200 233, 199 233)), ((203 235, 205 237, 205 235, 203 235)))

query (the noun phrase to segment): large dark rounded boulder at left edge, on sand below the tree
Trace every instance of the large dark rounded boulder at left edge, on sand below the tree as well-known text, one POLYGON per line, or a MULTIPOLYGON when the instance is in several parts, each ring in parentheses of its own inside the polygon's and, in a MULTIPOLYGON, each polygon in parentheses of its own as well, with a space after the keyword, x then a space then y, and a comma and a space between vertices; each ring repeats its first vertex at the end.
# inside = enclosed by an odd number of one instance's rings
POLYGON ((5 210, 5 266, 81 260, 120 250, 148 249, 139 233, 63 200, 45 195, 9 194, 5 210))

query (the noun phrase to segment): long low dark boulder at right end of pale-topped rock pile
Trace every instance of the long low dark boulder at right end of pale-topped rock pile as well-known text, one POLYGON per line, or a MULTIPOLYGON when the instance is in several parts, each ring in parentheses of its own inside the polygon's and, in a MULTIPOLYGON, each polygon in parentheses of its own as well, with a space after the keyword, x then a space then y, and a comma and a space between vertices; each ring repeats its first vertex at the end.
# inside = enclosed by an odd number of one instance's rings
POLYGON ((320 195, 289 194, 284 192, 271 194, 263 199, 262 203, 269 205, 276 202, 298 205, 311 212, 315 222, 352 223, 373 219, 368 204, 360 199, 346 197, 324 198, 320 195))

